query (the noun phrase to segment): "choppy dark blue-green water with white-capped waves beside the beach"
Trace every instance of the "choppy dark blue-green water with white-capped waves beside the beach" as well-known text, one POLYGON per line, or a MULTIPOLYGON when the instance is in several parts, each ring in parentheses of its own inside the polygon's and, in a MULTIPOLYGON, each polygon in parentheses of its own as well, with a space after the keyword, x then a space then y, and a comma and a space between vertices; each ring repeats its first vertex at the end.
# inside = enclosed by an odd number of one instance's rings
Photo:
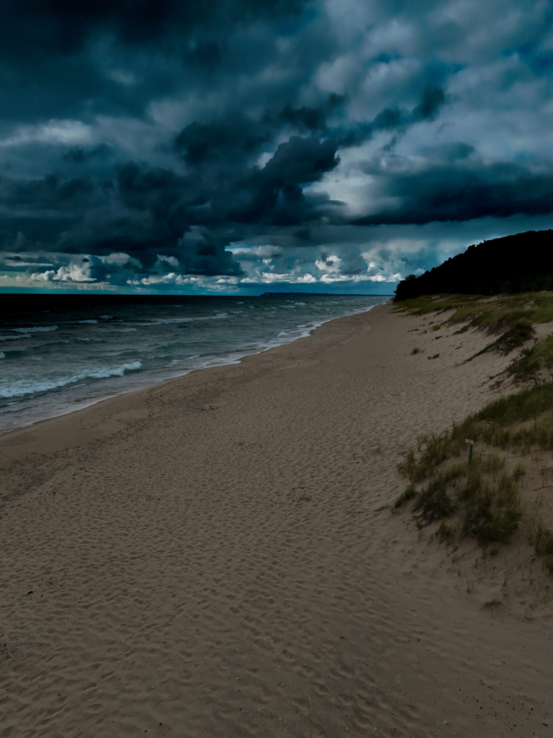
POLYGON ((4 294, 0 432, 237 362, 388 299, 4 294))

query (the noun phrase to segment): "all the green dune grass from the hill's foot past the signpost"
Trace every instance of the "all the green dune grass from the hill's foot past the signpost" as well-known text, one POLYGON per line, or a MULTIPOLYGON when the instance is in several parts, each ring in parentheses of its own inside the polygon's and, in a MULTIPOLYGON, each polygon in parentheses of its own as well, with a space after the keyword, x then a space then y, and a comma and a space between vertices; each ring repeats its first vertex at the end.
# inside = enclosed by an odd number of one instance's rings
POLYGON ((418 297, 399 303, 396 310, 417 317, 434 314, 425 330, 459 326, 454 333, 484 331, 490 343, 479 354, 507 355, 522 348, 505 370, 514 379, 514 392, 445 432, 422 436, 408 450, 398 466, 408 484, 392 509, 414 500, 411 511, 420 528, 435 524, 446 544, 470 538, 489 554, 522 527, 553 574, 553 529, 524 489, 528 464, 541 461, 545 476, 552 468, 543 460, 552 461, 553 454, 553 335, 538 340, 535 334, 536 326, 553 322, 553 292, 418 297), (467 439, 475 448, 470 463, 467 439))

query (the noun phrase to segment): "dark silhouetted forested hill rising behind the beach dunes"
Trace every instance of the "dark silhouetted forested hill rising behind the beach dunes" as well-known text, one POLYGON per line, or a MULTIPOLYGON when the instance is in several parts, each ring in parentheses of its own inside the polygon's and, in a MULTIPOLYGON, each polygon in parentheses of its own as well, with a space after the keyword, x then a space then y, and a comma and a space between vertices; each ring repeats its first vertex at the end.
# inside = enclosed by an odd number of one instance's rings
POLYGON ((420 277, 397 285, 396 300, 421 294, 498 294, 553 290, 553 230, 484 241, 420 277))

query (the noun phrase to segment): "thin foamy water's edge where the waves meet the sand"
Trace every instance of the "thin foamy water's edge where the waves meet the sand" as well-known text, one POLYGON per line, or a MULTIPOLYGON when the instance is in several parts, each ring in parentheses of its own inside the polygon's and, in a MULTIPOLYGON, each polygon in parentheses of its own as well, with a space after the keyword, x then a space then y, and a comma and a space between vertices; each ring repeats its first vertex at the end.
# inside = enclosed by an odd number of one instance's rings
MULTIPOLYGON (((386 305, 389 302, 390 302, 390 300, 388 300, 387 303, 379 303, 379 304, 386 305)), ((158 379, 158 380, 153 381, 151 383, 150 382, 147 382, 147 380, 145 380, 146 383, 142 387, 138 387, 138 388, 131 387, 128 390, 121 390, 121 391, 116 392, 116 393, 113 393, 113 394, 112 393, 108 393, 105 396, 100 396, 100 397, 94 398, 94 399, 92 399, 90 401, 85 401, 83 403, 79 402, 77 404, 74 404, 74 405, 69 406, 69 409, 61 410, 60 412, 56 412, 56 413, 54 413, 52 415, 46 415, 45 417, 37 418, 36 420, 26 422, 24 424, 18 425, 17 427, 7 428, 6 430, 0 430, 0 437, 3 436, 3 435, 5 435, 5 434, 7 434, 7 433, 13 433, 13 432, 18 431, 18 430, 23 430, 24 428, 29 428, 29 427, 35 426, 36 424, 43 423, 44 421, 54 420, 55 418, 61 418, 61 417, 63 417, 63 415, 69 415, 70 413, 78 413, 78 412, 80 412, 80 410, 86 410, 87 407, 92 407, 95 404, 98 404, 99 402, 104 402, 106 400, 116 399, 117 397, 121 397, 121 396, 124 396, 124 395, 130 395, 130 394, 133 394, 133 393, 136 393, 136 392, 142 392, 143 390, 149 390, 151 387, 156 387, 157 384, 163 384, 164 382, 170 382, 173 379, 182 379, 183 377, 188 376, 189 374, 191 374, 193 372, 201 371, 201 370, 204 370, 204 369, 213 369, 213 368, 218 368, 218 367, 222 367, 222 366, 230 366, 230 365, 240 364, 240 362, 242 362, 242 360, 246 356, 257 356, 257 354, 263 354, 263 353, 265 353, 265 351, 272 351, 274 348, 279 348, 280 346, 288 345, 288 343, 296 342, 296 341, 298 341, 299 339, 302 339, 302 338, 308 338, 311 335, 313 335, 314 331, 318 330, 318 328, 320 328, 321 325, 324 325, 325 323, 330 323, 331 320, 341 320, 341 318, 351 317, 352 315, 358 315, 358 314, 361 314, 361 313, 364 313, 364 312, 369 312, 372 309, 374 309, 375 307, 378 307, 378 305, 374 305, 374 306, 371 306, 369 308, 358 310, 355 313, 350 313, 350 314, 347 314, 347 315, 340 315, 338 317, 328 318, 327 320, 321 320, 320 322, 315 321, 316 325, 313 325, 313 328, 310 328, 308 331, 304 331, 302 333, 302 335, 300 335, 300 336, 298 336, 296 338, 293 338, 291 341, 288 341, 288 342, 277 343, 275 345, 268 346, 267 348, 260 348, 258 351, 253 351, 253 352, 247 353, 247 354, 241 354, 241 351, 239 349, 237 351, 232 352, 233 354, 239 354, 239 356, 237 356, 236 359, 230 359, 230 358, 229 359, 221 359, 220 362, 217 362, 216 360, 214 360, 214 362, 211 365, 206 365, 206 366, 202 366, 202 367, 198 367, 198 368, 187 369, 184 372, 179 372, 179 373, 176 373, 176 374, 171 374, 170 376, 164 377, 164 379, 158 379)), ((92 385, 92 386, 94 386, 94 385, 92 385)))

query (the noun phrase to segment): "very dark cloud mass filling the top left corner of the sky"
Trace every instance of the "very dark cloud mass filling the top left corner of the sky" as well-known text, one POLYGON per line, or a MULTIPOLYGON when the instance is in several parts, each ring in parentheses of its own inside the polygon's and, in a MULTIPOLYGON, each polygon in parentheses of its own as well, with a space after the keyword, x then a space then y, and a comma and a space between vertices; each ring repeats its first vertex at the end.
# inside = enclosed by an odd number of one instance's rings
POLYGON ((6 0, 0 9, 3 118, 143 115, 153 97, 181 88, 188 67, 196 74, 217 68, 232 30, 293 19, 305 4, 6 0), (125 74, 110 74, 110 66, 133 70, 136 80, 122 83, 125 74))

